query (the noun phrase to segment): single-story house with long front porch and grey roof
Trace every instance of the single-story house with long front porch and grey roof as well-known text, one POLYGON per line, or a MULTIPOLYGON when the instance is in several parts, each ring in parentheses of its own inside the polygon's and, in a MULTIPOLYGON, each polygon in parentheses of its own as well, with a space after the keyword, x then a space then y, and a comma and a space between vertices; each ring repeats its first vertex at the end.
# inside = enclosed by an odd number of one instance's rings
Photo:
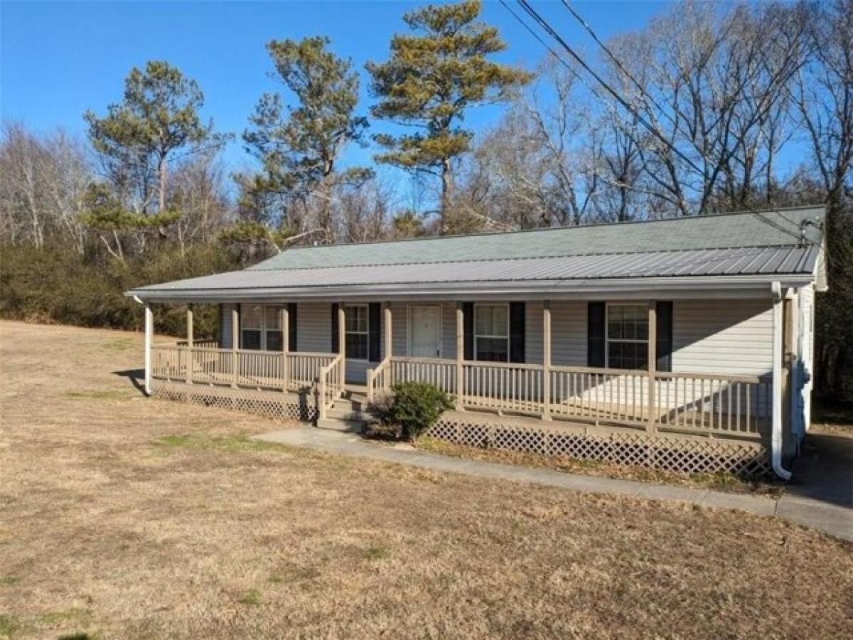
POLYGON ((427 381, 456 403, 439 438, 786 478, 809 428, 823 218, 294 247, 128 295, 160 397, 334 426, 392 383, 427 381), (151 305, 176 303, 188 339, 152 344, 151 305), (194 303, 218 305, 218 340, 194 341, 194 303))

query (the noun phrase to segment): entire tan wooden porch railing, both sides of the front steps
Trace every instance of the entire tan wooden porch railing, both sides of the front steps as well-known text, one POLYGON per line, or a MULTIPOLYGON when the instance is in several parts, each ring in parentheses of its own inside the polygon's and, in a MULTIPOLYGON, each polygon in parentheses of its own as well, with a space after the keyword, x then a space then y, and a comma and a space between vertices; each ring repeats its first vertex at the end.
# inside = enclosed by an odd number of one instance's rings
MULTIPOLYGON (((344 391, 344 360, 334 353, 262 352, 154 345, 152 377, 261 390, 316 387, 322 416, 344 391)), ((395 382, 428 382, 463 409, 489 410, 660 431, 756 436, 769 431, 772 385, 751 375, 668 373, 444 358, 386 358, 368 369, 368 399, 395 382), (457 379, 458 378, 458 379, 457 379), (547 380, 546 380, 547 378, 547 380), (653 394, 649 393, 650 381, 653 394), (546 392, 548 385, 548 393, 546 392)))

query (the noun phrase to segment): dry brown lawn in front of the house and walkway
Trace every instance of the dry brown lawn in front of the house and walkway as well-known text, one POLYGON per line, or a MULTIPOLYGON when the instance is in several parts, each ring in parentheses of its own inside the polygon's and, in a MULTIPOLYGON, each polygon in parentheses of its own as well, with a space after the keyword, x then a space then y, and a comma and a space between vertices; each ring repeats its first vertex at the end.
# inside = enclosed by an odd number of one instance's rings
POLYGON ((257 445, 139 336, 0 323, 0 637, 851 637, 781 521, 257 445))

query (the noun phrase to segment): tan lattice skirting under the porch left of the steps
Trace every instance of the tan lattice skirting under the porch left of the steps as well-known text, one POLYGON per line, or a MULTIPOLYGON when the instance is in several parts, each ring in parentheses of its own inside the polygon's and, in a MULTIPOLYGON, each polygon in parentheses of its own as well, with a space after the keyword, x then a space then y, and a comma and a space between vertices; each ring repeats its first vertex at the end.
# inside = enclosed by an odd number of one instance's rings
POLYGON ((269 391, 206 387, 153 380, 151 394, 154 398, 246 411, 270 418, 302 422, 316 420, 316 399, 311 393, 278 394, 269 391))

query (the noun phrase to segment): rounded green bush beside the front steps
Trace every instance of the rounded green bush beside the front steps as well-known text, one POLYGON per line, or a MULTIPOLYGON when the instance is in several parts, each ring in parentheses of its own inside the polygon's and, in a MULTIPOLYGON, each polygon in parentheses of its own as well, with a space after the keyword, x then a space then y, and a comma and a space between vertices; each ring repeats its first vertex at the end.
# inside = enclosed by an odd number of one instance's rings
POLYGON ((432 427, 453 404, 447 393, 426 382, 401 382, 391 387, 391 395, 368 407, 384 428, 396 428, 399 436, 415 439, 432 427))

